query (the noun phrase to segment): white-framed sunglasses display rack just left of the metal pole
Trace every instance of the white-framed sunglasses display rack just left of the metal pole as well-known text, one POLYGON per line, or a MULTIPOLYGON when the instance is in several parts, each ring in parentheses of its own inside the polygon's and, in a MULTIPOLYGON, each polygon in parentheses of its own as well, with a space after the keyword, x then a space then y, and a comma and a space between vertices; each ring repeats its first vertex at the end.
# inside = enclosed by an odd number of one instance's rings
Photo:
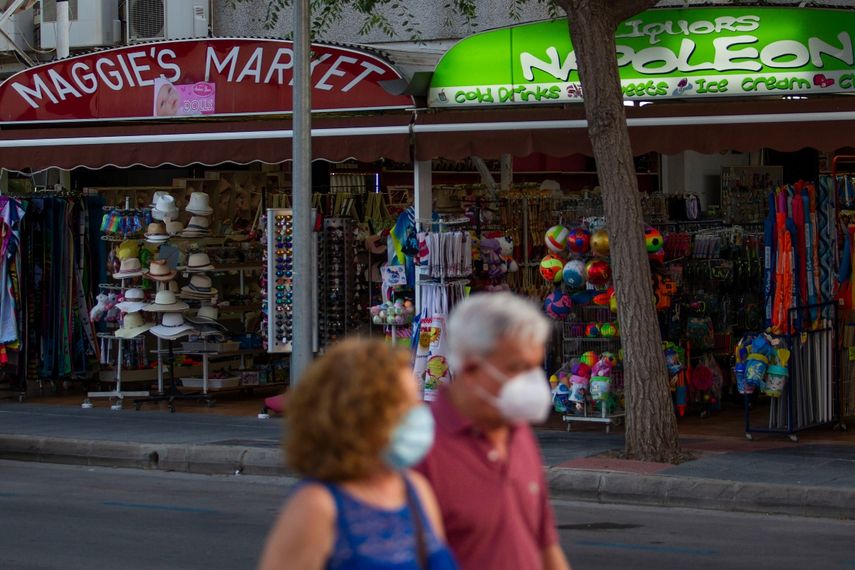
POLYGON ((290 353, 293 348, 294 224, 287 208, 267 210, 265 224, 266 283, 263 303, 267 352, 290 353))

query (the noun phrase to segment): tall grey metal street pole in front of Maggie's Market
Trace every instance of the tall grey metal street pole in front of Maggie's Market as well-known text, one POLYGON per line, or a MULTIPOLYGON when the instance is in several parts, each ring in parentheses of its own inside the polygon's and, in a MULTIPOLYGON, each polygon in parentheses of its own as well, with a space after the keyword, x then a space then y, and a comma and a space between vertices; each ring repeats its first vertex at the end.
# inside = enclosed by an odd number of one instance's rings
POLYGON ((291 178, 294 215, 294 296, 291 385, 312 360, 312 91, 309 0, 294 6, 294 138, 291 178))

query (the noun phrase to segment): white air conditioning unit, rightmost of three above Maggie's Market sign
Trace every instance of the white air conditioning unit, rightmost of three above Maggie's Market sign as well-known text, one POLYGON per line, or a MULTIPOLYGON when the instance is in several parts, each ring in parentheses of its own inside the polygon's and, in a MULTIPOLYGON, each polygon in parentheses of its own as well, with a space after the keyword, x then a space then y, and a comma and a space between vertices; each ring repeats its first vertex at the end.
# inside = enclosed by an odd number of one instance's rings
POLYGON ((211 0, 125 0, 128 43, 205 38, 211 0))

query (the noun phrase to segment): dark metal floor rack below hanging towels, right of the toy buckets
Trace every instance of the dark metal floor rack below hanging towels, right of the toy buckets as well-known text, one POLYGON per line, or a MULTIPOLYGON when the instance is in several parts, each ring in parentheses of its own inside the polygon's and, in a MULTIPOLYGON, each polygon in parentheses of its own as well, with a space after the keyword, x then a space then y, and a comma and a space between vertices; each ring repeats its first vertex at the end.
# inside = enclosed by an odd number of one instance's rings
POLYGON ((798 432, 834 425, 846 429, 840 409, 840 380, 834 358, 836 304, 833 301, 793 307, 789 312, 791 334, 787 336, 792 353, 788 363, 789 376, 780 398, 774 398, 766 427, 751 424, 751 394, 745 394, 745 437, 754 433, 786 435, 798 442, 798 432), (822 319, 817 328, 798 328, 797 323, 809 322, 809 314, 829 311, 831 317, 822 319))

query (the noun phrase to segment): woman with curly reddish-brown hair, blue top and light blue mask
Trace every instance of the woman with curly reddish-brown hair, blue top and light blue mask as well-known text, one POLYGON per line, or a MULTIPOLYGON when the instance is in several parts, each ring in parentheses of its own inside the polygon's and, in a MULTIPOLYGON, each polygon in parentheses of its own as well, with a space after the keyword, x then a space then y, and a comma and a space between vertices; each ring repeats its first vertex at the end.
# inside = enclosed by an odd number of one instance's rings
POLYGON ((410 467, 433 443, 409 355, 346 340, 290 393, 284 451, 304 481, 270 533, 261 570, 445 570, 439 507, 410 467))

